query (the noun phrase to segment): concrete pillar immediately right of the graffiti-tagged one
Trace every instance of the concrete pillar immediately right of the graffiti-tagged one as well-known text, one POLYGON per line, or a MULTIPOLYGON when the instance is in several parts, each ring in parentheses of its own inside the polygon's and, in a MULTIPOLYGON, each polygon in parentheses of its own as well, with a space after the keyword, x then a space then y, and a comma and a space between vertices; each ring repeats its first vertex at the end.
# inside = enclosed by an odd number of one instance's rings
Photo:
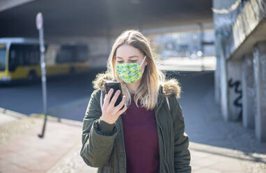
POLYGON ((242 59, 242 96, 243 126, 245 128, 254 128, 256 105, 253 54, 247 54, 242 59))

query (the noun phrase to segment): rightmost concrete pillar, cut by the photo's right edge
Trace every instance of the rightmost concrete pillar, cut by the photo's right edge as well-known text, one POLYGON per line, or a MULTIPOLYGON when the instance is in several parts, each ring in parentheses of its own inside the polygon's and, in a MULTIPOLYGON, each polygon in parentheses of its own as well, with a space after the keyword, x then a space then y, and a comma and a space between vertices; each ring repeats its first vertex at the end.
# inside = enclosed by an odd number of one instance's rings
POLYGON ((266 142, 266 41, 259 42, 253 50, 254 78, 256 89, 256 137, 266 142))

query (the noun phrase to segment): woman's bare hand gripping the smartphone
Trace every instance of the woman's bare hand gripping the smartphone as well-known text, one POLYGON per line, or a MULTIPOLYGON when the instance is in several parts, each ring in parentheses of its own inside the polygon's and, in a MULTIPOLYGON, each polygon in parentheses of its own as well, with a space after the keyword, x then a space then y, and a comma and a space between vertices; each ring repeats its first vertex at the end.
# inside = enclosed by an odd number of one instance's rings
POLYGON ((125 96, 123 96, 123 100, 119 103, 119 105, 114 106, 121 92, 120 90, 116 91, 114 97, 110 101, 113 92, 114 89, 110 89, 109 92, 105 94, 104 105, 102 106, 102 116, 100 117, 100 119, 110 124, 115 123, 118 117, 127 110, 127 106, 125 105, 125 96), (125 105, 125 107, 123 107, 123 105, 125 105), (122 107, 123 109, 120 110, 122 107))

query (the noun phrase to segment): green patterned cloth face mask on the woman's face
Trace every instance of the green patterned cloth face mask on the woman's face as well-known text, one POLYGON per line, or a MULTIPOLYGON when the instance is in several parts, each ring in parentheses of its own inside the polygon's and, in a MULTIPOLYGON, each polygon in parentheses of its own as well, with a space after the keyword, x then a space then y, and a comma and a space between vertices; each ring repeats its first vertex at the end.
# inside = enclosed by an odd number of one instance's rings
POLYGON ((125 83, 132 84, 141 78, 141 66, 145 61, 146 56, 144 57, 141 65, 139 63, 116 63, 116 70, 125 83))

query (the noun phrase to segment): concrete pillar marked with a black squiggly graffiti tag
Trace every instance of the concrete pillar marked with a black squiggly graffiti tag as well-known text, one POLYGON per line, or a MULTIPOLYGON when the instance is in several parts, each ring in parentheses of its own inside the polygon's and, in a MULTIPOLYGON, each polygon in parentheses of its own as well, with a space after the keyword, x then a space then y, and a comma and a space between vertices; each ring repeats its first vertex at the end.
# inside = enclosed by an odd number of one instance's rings
POLYGON ((241 60, 229 60, 228 68, 228 121, 242 119, 242 63, 241 60))

